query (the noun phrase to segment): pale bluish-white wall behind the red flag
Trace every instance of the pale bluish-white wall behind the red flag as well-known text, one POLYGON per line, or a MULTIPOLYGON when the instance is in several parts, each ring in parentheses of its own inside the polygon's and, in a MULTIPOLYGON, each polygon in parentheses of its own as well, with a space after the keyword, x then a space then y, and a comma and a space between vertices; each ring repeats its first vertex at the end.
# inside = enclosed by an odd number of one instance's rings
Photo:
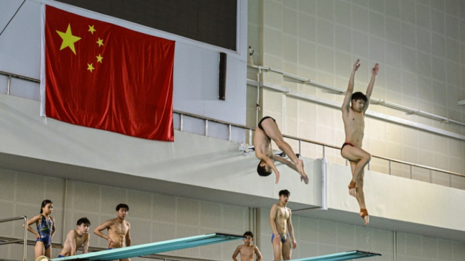
MULTIPOLYGON (((22 1, 0 0, 3 28, 22 1)), ((238 51, 199 43, 184 37, 111 18, 48 0, 26 0, 0 36, 0 71, 40 79, 41 3, 78 15, 117 24, 149 35, 176 41, 174 62, 174 110, 245 124, 247 1, 238 0, 238 51), (227 53, 226 100, 218 100, 219 53, 227 53)), ((3 77, 2 77, 3 78, 3 77)), ((18 81, 18 80, 17 80, 18 81)), ((11 94, 38 100, 38 85, 13 82, 11 94), (23 87, 29 85, 31 88, 23 87), (32 85, 32 86, 30 86, 32 85)), ((6 81, 0 83, 6 93, 6 81)))

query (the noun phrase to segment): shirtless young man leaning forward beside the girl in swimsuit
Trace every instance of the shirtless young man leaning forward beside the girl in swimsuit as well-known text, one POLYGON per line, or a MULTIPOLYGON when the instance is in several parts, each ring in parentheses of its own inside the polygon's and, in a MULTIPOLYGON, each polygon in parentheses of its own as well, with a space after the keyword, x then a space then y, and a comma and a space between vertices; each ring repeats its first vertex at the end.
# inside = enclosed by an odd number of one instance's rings
POLYGON ((77 220, 77 229, 71 230, 66 236, 63 249, 61 250, 58 258, 74 256, 77 250, 82 246, 82 254, 86 254, 89 248, 89 226, 91 221, 87 217, 82 217, 77 220))

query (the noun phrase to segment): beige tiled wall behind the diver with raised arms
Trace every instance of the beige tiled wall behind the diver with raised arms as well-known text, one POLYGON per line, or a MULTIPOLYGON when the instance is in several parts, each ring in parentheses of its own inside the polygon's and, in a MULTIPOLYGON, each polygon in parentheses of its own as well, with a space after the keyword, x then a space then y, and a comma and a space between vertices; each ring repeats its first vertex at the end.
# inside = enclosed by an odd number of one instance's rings
MULTIPOLYGON (((249 45, 254 63, 346 89, 352 64, 361 60, 355 91, 365 92, 375 63, 381 65, 372 97, 465 122, 465 1, 463 0, 249 0, 249 45), (462 25, 462 26, 461 26, 462 25)), ((249 68, 249 79, 256 70, 249 68)), ((341 103, 344 96, 274 72, 262 79, 307 95, 341 103)), ((249 86, 248 123, 255 123, 256 87, 249 86)), ((261 116, 272 116, 282 132, 340 146, 339 109, 263 89, 261 116)), ((369 110, 465 134, 465 127, 372 103, 369 110)), ((366 118, 364 148, 374 155, 465 173, 465 142, 366 118)), ((294 146, 296 148, 297 146, 294 146)), ((321 157, 308 145, 302 154, 321 157)), ((338 151, 329 161, 344 164, 338 151)), ((387 172, 387 162, 373 160, 387 172)), ((420 180, 429 173, 414 169, 420 180)), ((410 169, 393 166, 393 174, 410 169)), ((432 173, 432 179, 442 179, 432 173)), ((457 187, 462 187, 460 182, 457 187)))

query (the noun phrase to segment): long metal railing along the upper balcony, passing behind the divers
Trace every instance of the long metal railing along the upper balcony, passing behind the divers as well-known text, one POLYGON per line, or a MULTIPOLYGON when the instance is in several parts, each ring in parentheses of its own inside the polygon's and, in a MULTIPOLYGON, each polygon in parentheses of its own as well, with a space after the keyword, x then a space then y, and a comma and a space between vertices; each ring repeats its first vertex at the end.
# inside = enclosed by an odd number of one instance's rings
MULTIPOLYGON (((25 76, 21 76, 21 75, 9 73, 9 72, 0 71, 0 74, 4 74, 4 75, 7 75, 7 76, 8 76, 8 95, 9 95, 10 79, 11 79, 11 77, 16 77, 16 78, 20 78, 20 79, 27 80, 27 81, 32 81, 32 82, 40 82, 40 80, 38 80, 38 79, 29 78, 29 77, 25 77, 25 76)), ((184 122, 184 117, 187 116, 187 117, 192 117, 192 118, 197 118, 197 119, 202 119, 202 120, 204 120, 204 128, 205 128, 204 136, 206 136, 206 137, 208 137, 208 129, 209 129, 208 126, 209 126, 209 122, 216 122, 216 123, 225 124, 225 125, 228 126, 228 138, 227 138, 228 141, 231 141, 231 128, 232 128, 232 127, 237 127, 237 128, 245 129, 245 130, 248 131, 248 136, 249 136, 249 137, 248 137, 248 143, 249 143, 249 144, 252 144, 252 132, 255 131, 255 128, 252 128, 252 127, 249 127, 249 126, 246 126, 246 125, 241 125, 241 124, 235 124, 235 123, 227 122, 227 121, 224 121, 224 120, 212 119, 212 118, 208 118, 208 117, 204 117, 204 116, 200 116, 200 115, 195 115, 195 114, 191 114, 191 113, 181 112, 181 111, 173 111, 173 113, 174 113, 174 114, 179 114, 179 115, 180 115, 180 131, 184 131, 183 122, 184 122)), ((323 143, 323 142, 311 141, 311 140, 302 139, 302 138, 298 138, 298 137, 294 137, 294 136, 289 136, 289 135, 283 135, 283 137, 284 137, 284 138, 288 138, 288 139, 292 139, 292 140, 298 141, 298 143, 299 143, 299 154, 301 154, 301 155, 302 155, 302 142, 307 142, 307 143, 311 143, 311 144, 316 144, 316 145, 322 146, 322 156, 323 156, 323 158, 325 158, 325 156, 326 156, 326 147, 334 148, 334 149, 341 149, 341 147, 339 147, 339 146, 335 146, 335 145, 331 145, 331 144, 326 144, 326 143, 323 143)), ((303 155, 302 155, 302 156, 303 156, 303 155)), ((439 169, 439 168, 435 168, 435 167, 424 166, 424 165, 420 165, 420 164, 405 162, 405 161, 401 161, 401 160, 396 160, 396 159, 387 158, 387 157, 382 157, 382 156, 376 156, 376 155, 372 155, 372 158, 377 158, 377 159, 381 159, 381 160, 387 161, 387 162, 388 162, 388 168, 389 168, 389 174, 390 174, 390 175, 392 175, 392 163, 398 163, 398 164, 402 164, 402 165, 406 165, 406 166, 409 166, 409 167, 410 167, 410 178, 411 178, 411 179, 413 178, 413 167, 419 167, 419 168, 423 168, 423 169, 429 170, 429 175, 430 175, 429 180, 430 180, 430 183, 432 183, 432 180, 433 180, 433 179, 432 179, 432 171, 437 171, 437 172, 441 172, 441 173, 448 174, 448 175, 449 175, 449 187, 452 186, 452 176, 458 176, 458 177, 465 178, 465 175, 464 175, 464 174, 460 174, 460 173, 456 173, 456 172, 448 171, 448 170, 444 170, 444 169, 439 169)), ((347 161, 346 161, 346 165, 347 165, 347 161)), ((370 164, 368 165, 368 169, 370 169, 370 164)))

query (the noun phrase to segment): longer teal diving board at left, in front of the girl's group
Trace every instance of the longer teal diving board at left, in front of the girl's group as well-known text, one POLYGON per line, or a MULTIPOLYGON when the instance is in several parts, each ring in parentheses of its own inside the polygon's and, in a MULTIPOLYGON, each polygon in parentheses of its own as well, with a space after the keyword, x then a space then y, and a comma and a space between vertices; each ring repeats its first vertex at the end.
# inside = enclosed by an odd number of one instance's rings
POLYGON ((160 242, 128 246, 123 248, 115 248, 110 250, 103 250, 93 253, 75 255, 64 258, 54 258, 50 261, 110 261, 125 258, 140 257, 144 255, 151 255, 171 250, 178 250, 189 247, 203 246, 215 243, 223 243, 227 241, 243 239, 243 236, 212 233, 194 237, 183 237, 160 242))

